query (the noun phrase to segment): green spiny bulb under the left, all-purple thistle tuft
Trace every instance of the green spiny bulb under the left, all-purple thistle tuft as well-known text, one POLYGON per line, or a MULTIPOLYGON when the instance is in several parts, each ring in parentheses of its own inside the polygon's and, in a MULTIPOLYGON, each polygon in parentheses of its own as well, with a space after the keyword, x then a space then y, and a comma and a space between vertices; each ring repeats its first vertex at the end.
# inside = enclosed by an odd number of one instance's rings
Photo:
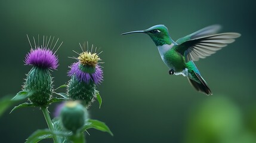
POLYGON ((32 67, 27 74, 24 90, 33 91, 33 95, 29 97, 29 101, 33 104, 39 107, 46 106, 53 92, 53 81, 50 71, 41 67, 32 67))

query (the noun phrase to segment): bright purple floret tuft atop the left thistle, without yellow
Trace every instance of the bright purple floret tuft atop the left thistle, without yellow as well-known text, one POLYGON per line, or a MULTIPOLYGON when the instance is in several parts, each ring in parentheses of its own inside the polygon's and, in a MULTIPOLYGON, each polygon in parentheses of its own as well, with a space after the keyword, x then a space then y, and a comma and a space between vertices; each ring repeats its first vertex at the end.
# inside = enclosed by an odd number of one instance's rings
POLYGON ((58 67, 58 58, 51 49, 38 47, 30 49, 30 52, 26 55, 25 63, 44 69, 55 70, 58 67))

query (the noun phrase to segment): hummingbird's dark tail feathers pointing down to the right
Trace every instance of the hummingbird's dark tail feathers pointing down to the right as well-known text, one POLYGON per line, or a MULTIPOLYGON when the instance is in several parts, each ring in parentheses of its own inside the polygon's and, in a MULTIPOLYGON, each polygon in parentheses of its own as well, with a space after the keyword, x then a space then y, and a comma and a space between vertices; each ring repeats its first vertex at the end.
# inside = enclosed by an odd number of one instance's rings
POLYGON ((192 80, 192 79, 189 79, 189 83, 199 92, 203 92, 205 93, 206 95, 212 95, 212 92, 211 92, 211 89, 209 89, 209 86, 207 85, 207 83, 205 82, 205 80, 203 79, 203 77, 196 73, 194 71, 194 73, 196 74, 196 77, 198 78, 198 80, 201 82, 201 83, 198 83, 196 82, 195 80, 192 80))

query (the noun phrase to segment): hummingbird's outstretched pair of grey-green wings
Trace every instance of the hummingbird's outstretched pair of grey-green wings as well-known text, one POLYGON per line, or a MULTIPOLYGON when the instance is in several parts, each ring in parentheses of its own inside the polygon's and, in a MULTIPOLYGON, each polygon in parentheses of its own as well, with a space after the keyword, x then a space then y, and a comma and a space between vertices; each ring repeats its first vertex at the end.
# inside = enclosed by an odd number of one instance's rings
POLYGON ((227 43, 234 42, 235 38, 240 36, 239 33, 232 32, 212 35, 218 29, 220 29, 219 26, 209 26, 180 38, 175 49, 186 57, 186 61, 198 61, 199 58, 214 54, 219 49, 227 46, 227 43))

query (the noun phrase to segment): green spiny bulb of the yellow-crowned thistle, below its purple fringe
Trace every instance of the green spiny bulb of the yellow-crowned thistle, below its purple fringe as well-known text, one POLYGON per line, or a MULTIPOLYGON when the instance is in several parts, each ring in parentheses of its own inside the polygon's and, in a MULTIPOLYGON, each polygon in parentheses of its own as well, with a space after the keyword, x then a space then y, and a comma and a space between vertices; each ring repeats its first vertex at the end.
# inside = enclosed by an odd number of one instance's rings
POLYGON ((72 100, 80 100, 85 106, 90 105, 96 94, 96 85, 79 81, 75 75, 69 80, 67 92, 72 100))

